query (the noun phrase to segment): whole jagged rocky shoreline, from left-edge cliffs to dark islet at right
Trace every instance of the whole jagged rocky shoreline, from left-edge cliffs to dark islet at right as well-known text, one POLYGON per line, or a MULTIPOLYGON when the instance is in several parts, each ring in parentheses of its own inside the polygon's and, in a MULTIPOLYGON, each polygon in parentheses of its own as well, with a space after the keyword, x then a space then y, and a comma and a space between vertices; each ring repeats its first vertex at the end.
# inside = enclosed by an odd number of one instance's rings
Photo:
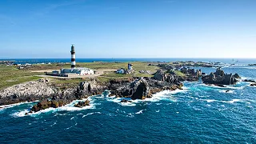
MULTIPOLYGON (((104 94, 110 90, 110 96, 117 98, 145 99, 151 98, 162 90, 182 90, 182 82, 195 82, 202 77, 202 82, 217 86, 233 85, 240 78, 238 74, 224 74, 223 70, 217 69, 215 73, 203 75, 201 70, 183 67, 181 70, 185 76, 178 76, 171 70, 158 70, 152 78, 126 78, 111 79, 109 82, 98 82, 97 78, 80 82, 78 86, 68 89, 59 89, 51 85, 51 82, 42 78, 37 82, 26 82, 16 86, 10 86, 0 90, 0 106, 18 102, 39 102, 30 109, 30 113, 53 107, 65 106, 74 100, 81 100, 92 95, 104 94)), ((122 100, 121 102, 128 102, 122 100)), ((78 102, 76 107, 90 106, 90 101, 78 102)))

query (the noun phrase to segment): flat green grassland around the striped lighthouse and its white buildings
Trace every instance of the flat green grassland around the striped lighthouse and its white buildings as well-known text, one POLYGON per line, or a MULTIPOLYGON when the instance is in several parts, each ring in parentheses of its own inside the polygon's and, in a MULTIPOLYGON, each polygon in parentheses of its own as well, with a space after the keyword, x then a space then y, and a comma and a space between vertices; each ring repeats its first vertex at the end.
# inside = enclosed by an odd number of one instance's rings
MULTIPOLYGON (((158 70, 157 66, 148 66, 146 62, 131 62, 134 64, 133 68, 135 70, 134 74, 115 74, 113 72, 106 72, 102 74, 97 79, 99 82, 108 82, 110 79, 117 78, 130 78, 130 77, 152 77, 151 74, 140 74, 139 70, 150 70, 152 73, 158 70)), ((100 69, 120 69, 127 68, 128 62, 78 62, 78 67, 88 67, 93 70, 100 69)), ((41 77, 37 75, 43 75, 43 72, 31 72, 33 70, 59 70, 61 68, 70 68, 70 64, 66 63, 64 65, 57 64, 38 64, 33 65, 28 69, 18 70, 17 66, 5 66, 0 65, 0 90, 8 86, 14 86, 22 82, 30 82, 38 80, 41 77)), ((79 82, 85 81, 86 78, 50 78, 51 82, 58 85, 65 85, 67 87, 77 86, 79 82)))

